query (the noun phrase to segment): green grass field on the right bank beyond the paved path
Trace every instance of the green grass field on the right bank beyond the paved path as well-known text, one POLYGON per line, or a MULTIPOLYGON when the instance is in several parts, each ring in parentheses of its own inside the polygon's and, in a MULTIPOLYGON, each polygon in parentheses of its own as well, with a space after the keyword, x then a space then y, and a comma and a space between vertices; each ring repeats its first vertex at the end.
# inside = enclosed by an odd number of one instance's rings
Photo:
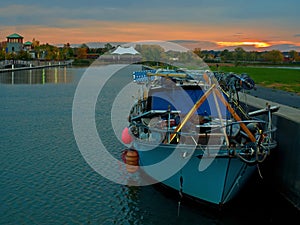
MULTIPOLYGON (((216 71, 215 66, 210 67, 216 71)), ((264 87, 294 92, 300 95, 300 69, 291 68, 267 68, 246 66, 220 66, 220 72, 233 72, 248 74, 256 84, 264 87)))

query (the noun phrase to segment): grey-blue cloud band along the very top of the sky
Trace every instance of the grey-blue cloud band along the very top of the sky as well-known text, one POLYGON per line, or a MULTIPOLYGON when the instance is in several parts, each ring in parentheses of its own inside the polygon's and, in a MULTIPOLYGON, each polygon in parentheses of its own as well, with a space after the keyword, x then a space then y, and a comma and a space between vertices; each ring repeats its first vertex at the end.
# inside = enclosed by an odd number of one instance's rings
POLYGON ((2 1, 0 19, 7 24, 48 24, 55 19, 86 19, 139 22, 232 23, 233 21, 300 20, 298 0, 21 0, 2 1), (33 13, 34 12, 34 13, 33 13), (293 15, 291 18, 290 15, 293 15))

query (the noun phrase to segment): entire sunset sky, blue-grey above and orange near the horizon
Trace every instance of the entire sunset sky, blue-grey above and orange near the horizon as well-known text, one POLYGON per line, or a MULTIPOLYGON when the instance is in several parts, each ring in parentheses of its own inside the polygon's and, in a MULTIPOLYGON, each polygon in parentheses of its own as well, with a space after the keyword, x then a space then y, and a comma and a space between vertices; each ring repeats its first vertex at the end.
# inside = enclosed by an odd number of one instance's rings
POLYGON ((299 0, 11 0, 0 3, 0 41, 18 33, 49 44, 176 40, 300 51, 299 21, 299 0))

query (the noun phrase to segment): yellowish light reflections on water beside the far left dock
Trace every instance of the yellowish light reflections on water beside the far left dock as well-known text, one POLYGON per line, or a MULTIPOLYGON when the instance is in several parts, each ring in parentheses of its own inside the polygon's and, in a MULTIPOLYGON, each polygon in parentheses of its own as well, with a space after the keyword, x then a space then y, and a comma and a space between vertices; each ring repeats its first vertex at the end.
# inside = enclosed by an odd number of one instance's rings
POLYGON ((70 83, 74 76, 67 67, 52 67, 0 73, 2 84, 60 84, 70 83))

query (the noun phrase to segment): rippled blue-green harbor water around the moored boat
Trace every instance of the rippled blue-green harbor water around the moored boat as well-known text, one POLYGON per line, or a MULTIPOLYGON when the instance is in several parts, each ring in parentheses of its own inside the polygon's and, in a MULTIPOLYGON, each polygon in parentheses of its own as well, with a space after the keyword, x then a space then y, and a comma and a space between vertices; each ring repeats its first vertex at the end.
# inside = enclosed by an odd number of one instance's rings
MULTIPOLYGON (((112 182, 84 160, 72 127, 76 87, 87 68, 0 73, 0 224, 278 224, 298 211, 258 174, 228 207, 214 209, 160 186, 112 182)), ((124 75, 125 76, 125 75, 124 75)), ((130 74, 126 74, 130 76, 130 74)), ((130 77, 129 77, 130 78, 130 77)), ((111 80, 116 82, 118 80, 111 80)), ((96 105, 99 133, 121 160, 125 146, 103 130, 105 104, 96 105)), ((124 117, 126 118, 126 117, 124 117)), ((109 165, 108 165, 109 166, 109 165)), ((262 171, 263 172, 263 171, 262 171)))

